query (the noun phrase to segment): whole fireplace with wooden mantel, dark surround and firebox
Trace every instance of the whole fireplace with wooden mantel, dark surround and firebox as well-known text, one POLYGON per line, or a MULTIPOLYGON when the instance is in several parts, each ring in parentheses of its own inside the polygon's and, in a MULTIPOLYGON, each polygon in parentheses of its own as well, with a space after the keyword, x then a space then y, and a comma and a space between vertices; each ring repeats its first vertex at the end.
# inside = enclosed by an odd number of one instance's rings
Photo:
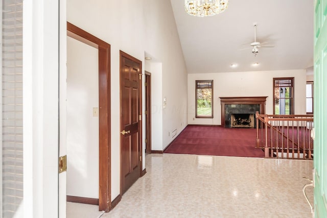
POLYGON ((255 112, 265 114, 266 98, 267 96, 220 97, 221 125, 225 128, 256 128, 255 112))

